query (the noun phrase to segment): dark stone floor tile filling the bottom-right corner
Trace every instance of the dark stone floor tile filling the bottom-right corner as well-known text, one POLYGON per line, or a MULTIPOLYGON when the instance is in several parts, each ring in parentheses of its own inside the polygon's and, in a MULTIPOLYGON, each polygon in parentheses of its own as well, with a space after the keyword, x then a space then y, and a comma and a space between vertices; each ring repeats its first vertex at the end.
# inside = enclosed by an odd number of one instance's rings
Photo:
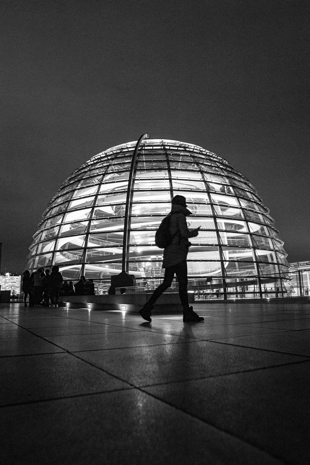
POLYGON ((285 463, 308 464, 309 385, 305 362, 145 390, 285 463))

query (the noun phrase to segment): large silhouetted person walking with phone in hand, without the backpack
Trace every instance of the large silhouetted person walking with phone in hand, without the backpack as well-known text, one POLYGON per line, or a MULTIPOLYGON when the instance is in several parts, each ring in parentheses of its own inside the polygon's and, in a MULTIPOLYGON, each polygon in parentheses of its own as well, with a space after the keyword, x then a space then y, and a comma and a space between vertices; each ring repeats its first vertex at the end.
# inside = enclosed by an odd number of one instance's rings
POLYGON ((188 229, 186 216, 191 212, 187 210, 186 199, 183 195, 176 195, 171 201, 171 220, 169 232, 173 237, 171 243, 164 249, 163 268, 165 268, 164 282, 153 292, 151 298, 139 311, 143 319, 152 321, 151 312, 154 303, 161 294, 171 286, 174 275, 178 278, 178 292, 183 306, 183 321, 203 321, 188 304, 187 295, 187 263, 186 257, 190 247, 189 237, 198 236, 199 228, 188 229))

